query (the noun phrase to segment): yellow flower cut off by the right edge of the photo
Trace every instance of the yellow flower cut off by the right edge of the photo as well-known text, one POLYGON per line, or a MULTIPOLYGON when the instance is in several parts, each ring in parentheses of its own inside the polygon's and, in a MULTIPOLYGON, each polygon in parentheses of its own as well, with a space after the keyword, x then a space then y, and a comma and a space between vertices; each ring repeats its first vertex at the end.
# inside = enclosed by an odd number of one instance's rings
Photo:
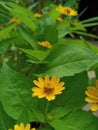
POLYGON ((91 111, 98 110, 98 80, 96 80, 96 87, 89 86, 85 94, 88 96, 85 101, 91 103, 91 111))

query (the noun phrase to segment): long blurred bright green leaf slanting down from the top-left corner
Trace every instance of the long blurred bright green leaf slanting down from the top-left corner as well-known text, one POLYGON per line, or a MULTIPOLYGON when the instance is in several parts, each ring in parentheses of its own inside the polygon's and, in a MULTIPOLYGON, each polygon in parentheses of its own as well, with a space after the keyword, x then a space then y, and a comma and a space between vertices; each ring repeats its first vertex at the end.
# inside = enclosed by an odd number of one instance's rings
POLYGON ((19 18, 24 22, 32 31, 36 29, 36 19, 33 13, 24 7, 11 2, 1 2, 1 4, 13 15, 13 17, 19 18))

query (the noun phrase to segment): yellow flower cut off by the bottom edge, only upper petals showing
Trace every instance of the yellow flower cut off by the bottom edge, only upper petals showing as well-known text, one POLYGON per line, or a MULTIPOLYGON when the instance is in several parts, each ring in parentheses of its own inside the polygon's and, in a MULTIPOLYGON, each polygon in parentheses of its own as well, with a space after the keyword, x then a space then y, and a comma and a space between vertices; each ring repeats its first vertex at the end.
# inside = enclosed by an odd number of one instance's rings
MULTIPOLYGON (((12 130, 12 129, 9 129, 12 130)), ((14 125, 14 130, 36 130, 35 128, 30 129, 30 124, 27 124, 26 126, 24 126, 23 123, 21 123, 20 125, 14 125)))

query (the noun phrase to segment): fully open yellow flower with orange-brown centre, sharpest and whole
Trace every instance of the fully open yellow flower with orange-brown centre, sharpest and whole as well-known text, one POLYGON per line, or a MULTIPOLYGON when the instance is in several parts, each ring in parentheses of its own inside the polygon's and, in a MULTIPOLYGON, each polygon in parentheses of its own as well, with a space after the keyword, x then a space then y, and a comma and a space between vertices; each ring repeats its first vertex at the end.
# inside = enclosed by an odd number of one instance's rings
POLYGON ((55 95, 61 94, 62 90, 65 89, 64 82, 60 82, 60 78, 53 76, 51 79, 48 75, 45 78, 38 78, 33 83, 37 87, 33 87, 32 96, 38 96, 38 98, 46 98, 48 101, 54 100, 55 95))

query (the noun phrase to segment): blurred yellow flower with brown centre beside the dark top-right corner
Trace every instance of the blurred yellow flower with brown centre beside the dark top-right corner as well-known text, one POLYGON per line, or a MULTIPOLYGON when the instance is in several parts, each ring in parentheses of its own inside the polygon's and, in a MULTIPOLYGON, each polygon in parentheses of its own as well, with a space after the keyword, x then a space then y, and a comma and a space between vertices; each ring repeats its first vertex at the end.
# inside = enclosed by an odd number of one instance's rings
POLYGON ((67 16, 77 16, 78 15, 77 11, 73 10, 71 7, 68 7, 68 6, 64 7, 62 5, 59 5, 57 10, 61 14, 64 14, 67 16))

